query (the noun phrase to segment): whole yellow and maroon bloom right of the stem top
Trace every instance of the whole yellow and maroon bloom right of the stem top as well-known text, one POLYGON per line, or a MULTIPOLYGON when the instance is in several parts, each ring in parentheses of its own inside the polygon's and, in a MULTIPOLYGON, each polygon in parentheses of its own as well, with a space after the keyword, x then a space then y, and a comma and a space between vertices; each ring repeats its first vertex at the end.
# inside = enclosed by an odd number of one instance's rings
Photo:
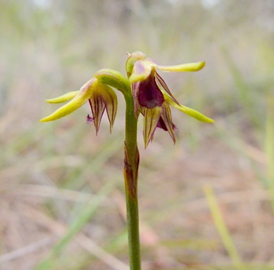
POLYGON ((206 123, 214 122, 196 110, 178 103, 163 81, 163 78, 156 71, 199 71, 203 66, 205 66, 205 62, 187 63, 177 66, 159 66, 151 59, 146 58, 146 55, 140 51, 132 54, 128 53, 126 72, 131 83, 135 115, 137 117, 138 112, 140 112, 144 116, 143 137, 145 147, 153 140, 156 128, 168 131, 173 142, 176 142, 174 135, 176 126, 172 122, 170 105, 200 121, 206 123))

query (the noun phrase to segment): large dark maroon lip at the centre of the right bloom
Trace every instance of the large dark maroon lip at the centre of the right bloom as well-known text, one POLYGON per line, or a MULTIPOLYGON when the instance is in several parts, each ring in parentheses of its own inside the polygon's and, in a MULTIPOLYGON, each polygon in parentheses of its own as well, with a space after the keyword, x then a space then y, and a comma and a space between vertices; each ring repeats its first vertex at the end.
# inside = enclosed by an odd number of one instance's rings
POLYGON ((138 102, 141 106, 149 109, 161 107, 163 101, 163 93, 158 88, 154 76, 149 76, 145 81, 140 82, 138 102))

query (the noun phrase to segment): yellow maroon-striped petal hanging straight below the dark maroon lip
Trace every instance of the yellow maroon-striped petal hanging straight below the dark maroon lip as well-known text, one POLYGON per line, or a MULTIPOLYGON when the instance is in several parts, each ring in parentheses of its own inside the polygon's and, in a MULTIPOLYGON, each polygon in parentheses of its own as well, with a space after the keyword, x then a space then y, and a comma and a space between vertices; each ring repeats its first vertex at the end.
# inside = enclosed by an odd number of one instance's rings
POLYGON ((148 142, 153 137, 154 130, 157 127, 158 120, 161 116, 161 107, 155 107, 153 109, 146 108, 143 118, 143 140, 145 141, 145 148, 148 146, 148 142))

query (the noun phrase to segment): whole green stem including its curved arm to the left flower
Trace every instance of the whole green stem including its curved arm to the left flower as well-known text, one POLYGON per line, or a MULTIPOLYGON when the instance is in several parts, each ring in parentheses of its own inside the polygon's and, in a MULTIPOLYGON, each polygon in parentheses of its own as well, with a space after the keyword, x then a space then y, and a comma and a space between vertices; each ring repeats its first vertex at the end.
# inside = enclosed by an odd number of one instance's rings
POLYGON ((138 166, 137 117, 134 113, 134 100, 131 84, 118 71, 101 69, 94 75, 101 83, 106 83, 123 93, 126 100, 126 139, 123 176, 126 188, 126 218, 128 224, 128 249, 131 270, 141 270, 139 216, 138 216, 138 166))

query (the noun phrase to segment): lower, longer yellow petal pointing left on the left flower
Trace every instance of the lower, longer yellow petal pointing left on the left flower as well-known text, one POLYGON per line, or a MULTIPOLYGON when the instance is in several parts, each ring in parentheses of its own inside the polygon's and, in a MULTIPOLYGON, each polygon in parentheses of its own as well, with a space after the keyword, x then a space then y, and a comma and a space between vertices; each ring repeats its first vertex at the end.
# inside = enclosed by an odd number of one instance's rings
POLYGON ((40 122, 54 121, 70 113, 73 113, 74 110, 80 108, 81 105, 86 103, 88 98, 91 97, 91 93, 93 92, 94 88, 96 88, 97 82, 98 80, 96 78, 92 78, 90 81, 88 81, 85 85, 81 87, 77 95, 71 101, 66 103, 66 105, 63 105, 61 108, 56 110, 48 117, 41 119, 40 122))

